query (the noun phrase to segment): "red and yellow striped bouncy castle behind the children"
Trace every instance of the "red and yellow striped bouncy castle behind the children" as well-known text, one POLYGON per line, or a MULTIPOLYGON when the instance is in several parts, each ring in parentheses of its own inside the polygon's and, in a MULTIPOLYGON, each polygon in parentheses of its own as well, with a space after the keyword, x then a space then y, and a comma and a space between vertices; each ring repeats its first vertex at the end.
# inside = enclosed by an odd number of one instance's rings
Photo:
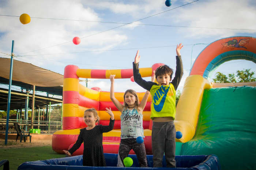
MULTIPOLYGON (((142 77, 149 77, 161 63, 154 64, 151 68, 140 68, 142 77)), ((52 148, 57 153, 63 153, 62 150, 68 150, 76 142, 80 129, 86 127, 83 120, 84 111, 87 108, 95 108, 100 117, 99 123, 108 125, 110 116, 105 112, 106 107, 111 107, 114 113, 115 123, 114 129, 108 133, 103 133, 103 151, 104 153, 118 153, 120 143, 120 115, 112 101, 110 94, 101 91, 99 87, 92 89, 82 86, 79 78, 100 78, 109 79, 111 74, 115 74, 115 79, 131 78, 133 76, 132 69, 123 70, 90 70, 80 69, 74 65, 68 65, 64 70, 63 83, 63 130, 56 131, 52 137, 52 148)), ((144 92, 137 93, 139 100, 142 100, 144 92)), ((115 97, 123 103, 124 92, 115 92, 115 97)), ((151 130, 150 130, 150 104, 151 97, 148 98, 146 107, 143 111, 143 129, 144 143, 147 154, 152 154, 151 150, 151 130)), ((134 152, 131 151, 131 154, 134 152)), ((83 145, 75 151, 73 155, 83 154, 83 145)))

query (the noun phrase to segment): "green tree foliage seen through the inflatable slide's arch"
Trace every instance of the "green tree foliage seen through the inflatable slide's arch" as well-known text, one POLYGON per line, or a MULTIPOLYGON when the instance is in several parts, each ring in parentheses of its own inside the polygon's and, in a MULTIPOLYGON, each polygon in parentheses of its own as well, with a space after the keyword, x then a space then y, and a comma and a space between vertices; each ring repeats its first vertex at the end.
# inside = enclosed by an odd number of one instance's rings
POLYGON ((254 72, 251 69, 237 70, 236 75, 234 73, 227 76, 221 72, 217 72, 214 83, 237 83, 237 82, 255 82, 254 72))

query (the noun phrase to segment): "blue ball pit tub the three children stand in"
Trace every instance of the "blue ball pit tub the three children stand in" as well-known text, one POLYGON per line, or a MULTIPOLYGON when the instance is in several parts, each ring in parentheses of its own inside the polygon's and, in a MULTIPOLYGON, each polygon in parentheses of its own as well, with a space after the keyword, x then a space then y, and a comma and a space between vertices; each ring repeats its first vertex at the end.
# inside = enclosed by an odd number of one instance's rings
POLYGON ((83 155, 65 158, 47 159, 44 161, 33 161, 22 163, 18 170, 124 170, 124 169, 155 169, 155 170, 166 170, 166 169, 177 169, 177 170, 219 170, 219 159, 216 155, 184 155, 176 156, 176 168, 167 168, 165 157, 163 157, 163 167, 153 168, 153 155, 147 155, 147 168, 139 167, 139 162, 136 155, 128 155, 133 159, 133 165, 131 167, 116 167, 117 165, 117 154, 104 154, 106 159, 106 167, 92 167, 82 166, 83 155))

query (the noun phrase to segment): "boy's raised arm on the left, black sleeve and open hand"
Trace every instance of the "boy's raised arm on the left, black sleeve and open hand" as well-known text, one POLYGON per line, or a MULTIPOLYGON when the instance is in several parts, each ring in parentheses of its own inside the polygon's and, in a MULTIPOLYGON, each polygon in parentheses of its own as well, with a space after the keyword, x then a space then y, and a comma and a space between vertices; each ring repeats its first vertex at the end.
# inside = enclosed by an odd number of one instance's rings
POLYGON ((136 53, 134 62, 133 62, 133 78, 134 81, 139 84, 141 87, 143 87, 144 89, 150 91, 151 87, 155 84, 157 85, 157 83, 154 82, 147 82, 146 80, 143 80, 140 73, 139 73, 139 62, 140 62, 140 56, 139 56, 139 50, 136 53))

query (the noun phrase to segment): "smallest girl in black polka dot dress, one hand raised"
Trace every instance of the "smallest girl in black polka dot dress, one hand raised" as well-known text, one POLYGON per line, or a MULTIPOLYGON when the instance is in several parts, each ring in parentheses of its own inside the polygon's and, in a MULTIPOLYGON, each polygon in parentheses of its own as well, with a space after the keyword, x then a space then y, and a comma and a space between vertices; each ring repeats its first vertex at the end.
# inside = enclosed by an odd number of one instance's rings
POLYGON ((66 155, 71 156, 83 143, 83 166, 106 166, 103 154, 102 133, 109 132, 114 127, 114 114, 111 108, 106 108, 106 112, 110 115, 109 126, 97 125, 99 116, 94 108, 84 111, 84 122, 87 127, 80 129, 80 134, 76 143, 71 149, 63 150, 66 155))

